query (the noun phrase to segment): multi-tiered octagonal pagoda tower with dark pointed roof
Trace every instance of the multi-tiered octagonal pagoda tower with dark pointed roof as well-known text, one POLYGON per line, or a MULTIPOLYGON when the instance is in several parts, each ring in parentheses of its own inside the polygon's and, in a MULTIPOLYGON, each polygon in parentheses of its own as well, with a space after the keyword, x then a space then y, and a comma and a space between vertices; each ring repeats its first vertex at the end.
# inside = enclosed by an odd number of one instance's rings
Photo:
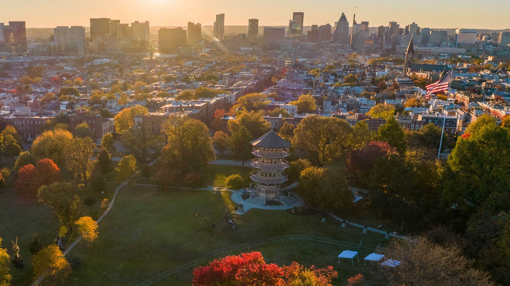
POLYGON ((250 176, 253 182, 257 183, 257 195, 266 198, 277 198, 280 196, 280 185, 288 180, 284 169, 289 167, 285 157, 289 156, 291 144, 278 136, 273 130, 262 137, 251 141, 253 146, 253 159, 251 166, 257 168, 250 176))

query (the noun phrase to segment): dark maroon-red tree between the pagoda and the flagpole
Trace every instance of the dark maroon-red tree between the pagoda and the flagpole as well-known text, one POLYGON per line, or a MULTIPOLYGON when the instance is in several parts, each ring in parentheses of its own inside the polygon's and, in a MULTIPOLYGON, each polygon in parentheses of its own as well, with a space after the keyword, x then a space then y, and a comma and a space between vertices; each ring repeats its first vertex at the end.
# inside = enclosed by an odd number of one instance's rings
POLYGON ((368 187, 369 174, 374 167, 375 160, 388 152, 395 151, 394 147, 381 141, 371 141, 361 150, 350 151, 347 155, 349 178, 358 183, 361 188, 368 187))

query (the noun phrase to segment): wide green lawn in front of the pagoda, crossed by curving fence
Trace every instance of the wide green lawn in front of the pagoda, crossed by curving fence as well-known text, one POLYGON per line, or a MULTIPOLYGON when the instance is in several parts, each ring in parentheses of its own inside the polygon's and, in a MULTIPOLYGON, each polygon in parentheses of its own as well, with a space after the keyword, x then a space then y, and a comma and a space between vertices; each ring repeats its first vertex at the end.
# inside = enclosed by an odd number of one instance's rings
MULTIPOLYGON (((136 285, 165 270, 184 265, 210 251, 266 238, 302 234, 359 243, 361 261, 350 266, 347 260, 338 264, 337 255, 346 247, 313 241, 286 241, 258 246, 267 262, 278 265, 297 261, 305 266, 333 265, 339 271, 335 284, 342 284, 352 275, 369 275, 363 257, 375 250, 375 245, 387 242, 380 234, 363 234, 361 228, 340 227, 329 218, 321 222, 322 213, 310 216, 291 215, 287 211, 251 209, 234 215, 237 230, 221 220, 225 208, 233 211, 229 193, 212 191, 160 190, 156 187, 125 187, 117 203, 99 225, 99 237, 94 245, 80 243, 70 255, 82 265, 68 280, 72 285, 136 285), (198 212, 194 217, 193 212, 198 212), (204 218, 211 220, 205 223, 204 218), (212 227, 215 223, 216 226, 212 227)), ((228 255, 225 253, 224 255, 228 255)), ((224 256, 223 255, 223 256, 224 256)), ((166 277, 158 285, 190 285, 191 272, 166 277)))

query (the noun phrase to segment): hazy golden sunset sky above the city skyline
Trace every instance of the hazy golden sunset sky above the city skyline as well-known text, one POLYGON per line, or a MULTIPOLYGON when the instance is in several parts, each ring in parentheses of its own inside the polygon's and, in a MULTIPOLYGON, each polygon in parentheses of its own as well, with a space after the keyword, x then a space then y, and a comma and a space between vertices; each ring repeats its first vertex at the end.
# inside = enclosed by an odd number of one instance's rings
POLYGON ((122 23, 146 21, 150 25, 186 25, 188 21, 212 25, 215 14, 225 13, 225 25, 287 25, 292 12, 304 12, 304 25, 334 24, 342 11, 352 24, 370 26, 397 21, 401 27, 416 22, 421 27, 510 28, 510 0, 2 0, 0 22, 27 22, 27 27, 89 26, 89 18, 120 19, 122 23))

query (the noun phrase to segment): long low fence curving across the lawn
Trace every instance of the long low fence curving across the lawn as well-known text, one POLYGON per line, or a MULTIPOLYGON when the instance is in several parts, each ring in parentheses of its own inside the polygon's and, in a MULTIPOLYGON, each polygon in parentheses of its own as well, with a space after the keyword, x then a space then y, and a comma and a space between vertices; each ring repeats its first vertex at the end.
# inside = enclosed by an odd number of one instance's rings
POLYGON ((143 281, 140 284, 137 284, 136 286, 150 285, 150 284, 152 284, 152 283, 154 283, 154 282, 156 282, 156 281, 158 281, 158 280, 160 280, 160 279, 162 279, 162 278, 164 278, 164 277, 166 277, 168 275, 171 275, 173 273, 181 272, 181 271, 187 270, 187 269, 189 269, 191 267, 196 267, 199 263, 201 263, 203 261, 206 261, 206 260, 212 258, 215 255, 222 254, 224 252, 235 251, 235 250, 242 250, 242 249, 249 249, 251 247, 255 247, 255 246, 258 246, 258 245, 266 244, 266 243, 269 243, 269 242, 284 241, 284 240, 309 240, 309 241, 317 241, 317 242, 324 242, 324 243, 329 243, 329 244, 333 244, 333 245, 345 246, 345 247, 347 247, 349 249, 350 248, 360 249, 360 247, 362 245, 361 241, 360 241, 360 243, 351 243, 351 242, 345 242, 345 241, 340 241, 340 240, 321 238, 321 237, 310 236, 310 235, 277 236, 277 237, 273 237, 273 238, 259 240, 259 241, 252 242, 252 243, 241 244, 241 245, 234 245, 234 246, 224 247, 224 248, 215 250, 215 251, 210 252, 210 253, 208 253, 206 255, 203 255, 201 258, 195 259, 194 261, 192 261, 192 262, 190 262, 188 264, 185 264, 183 266, 176 267, 176 268, 167 270, 165 272, 162 272, 162 273, 158 274, 157 276, 154 276, 154 277, 152 277, 152 278, 150 278, 148 280, 143 281))

